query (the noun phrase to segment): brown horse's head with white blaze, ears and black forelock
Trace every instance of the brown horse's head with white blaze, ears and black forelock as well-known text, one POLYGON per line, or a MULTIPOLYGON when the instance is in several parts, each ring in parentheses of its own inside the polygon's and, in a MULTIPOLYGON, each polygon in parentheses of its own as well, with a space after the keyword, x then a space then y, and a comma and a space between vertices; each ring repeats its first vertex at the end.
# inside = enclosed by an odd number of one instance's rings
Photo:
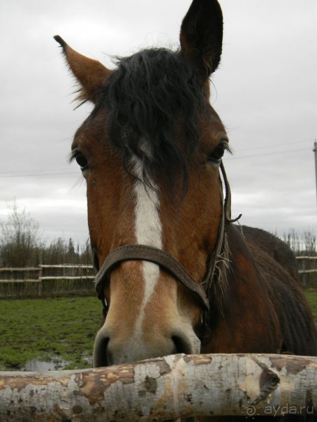
POLYGON ((200 352, 209 307, 202 280, 223 224, 219 168, 228 137, 209 104, 222 30, 219 3, 193 0, 178 51, 142 50, 118 59, 114 70, 55 37, 80 84, 79 100, 94 104, 72 144, 87 182, 98 294, 107 313, 94 366, 200 352), (141 247, 133 256, 121 257, 134 245, 141 247), (147 248, 172 258, 161 264, 147 248))

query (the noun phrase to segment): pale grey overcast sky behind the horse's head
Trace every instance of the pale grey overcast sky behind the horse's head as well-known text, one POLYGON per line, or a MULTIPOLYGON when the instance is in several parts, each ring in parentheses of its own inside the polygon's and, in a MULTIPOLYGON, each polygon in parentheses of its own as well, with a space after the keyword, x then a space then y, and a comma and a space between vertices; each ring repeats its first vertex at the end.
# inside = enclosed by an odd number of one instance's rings
MULTIPOLYGON (((0 219, 16 199, 47 239, 88 238, 84 182, 68 165, 74 90, 59 34, 113 67, 111 55, 177 47, 191 0, 1 0, 0 219)), ((224 160, 233 216, 279 234, 316 234, 317 1, 223 0, 224 45, 212 105, 234 155, 224 160)))

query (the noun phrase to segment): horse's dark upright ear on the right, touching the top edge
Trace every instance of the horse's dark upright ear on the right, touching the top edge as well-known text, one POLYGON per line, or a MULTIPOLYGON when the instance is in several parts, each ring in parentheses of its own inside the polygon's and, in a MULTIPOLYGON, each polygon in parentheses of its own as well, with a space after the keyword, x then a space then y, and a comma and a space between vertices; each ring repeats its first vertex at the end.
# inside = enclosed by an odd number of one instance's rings
POLYGON ((209 77, 219 65, 222 50, 223 17, 216 0, 193 0, 182 22, 182 52, 209 77))

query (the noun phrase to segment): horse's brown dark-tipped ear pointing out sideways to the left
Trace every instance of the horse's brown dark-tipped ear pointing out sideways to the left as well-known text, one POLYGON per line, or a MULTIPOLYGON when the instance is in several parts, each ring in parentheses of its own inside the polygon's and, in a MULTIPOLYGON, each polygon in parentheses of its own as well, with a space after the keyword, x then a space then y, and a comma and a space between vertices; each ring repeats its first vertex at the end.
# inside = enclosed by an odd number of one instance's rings
POLYGON ((60 36, 54 36, 54 40, 61 45, 68 66, 80 83, 79 94, 76 100, 80 102, 89 100, 92 103, 96 103, 97 93, 103 86, 110 70, 105 68, 99 61, 89 59, 75 52, 60 36))

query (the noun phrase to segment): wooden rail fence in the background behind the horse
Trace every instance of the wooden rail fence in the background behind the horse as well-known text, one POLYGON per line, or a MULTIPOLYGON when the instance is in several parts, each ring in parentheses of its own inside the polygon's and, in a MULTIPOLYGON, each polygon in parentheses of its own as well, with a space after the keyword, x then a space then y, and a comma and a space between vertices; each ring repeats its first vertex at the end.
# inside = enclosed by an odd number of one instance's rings
MULTIPOLYGON (((317 256, 296 257, 303 287, 317 287, 317 256)), ((34 268, 1 268, 0 298, 94 294, 95 271, 91 265, 39 265, 34 268)))

